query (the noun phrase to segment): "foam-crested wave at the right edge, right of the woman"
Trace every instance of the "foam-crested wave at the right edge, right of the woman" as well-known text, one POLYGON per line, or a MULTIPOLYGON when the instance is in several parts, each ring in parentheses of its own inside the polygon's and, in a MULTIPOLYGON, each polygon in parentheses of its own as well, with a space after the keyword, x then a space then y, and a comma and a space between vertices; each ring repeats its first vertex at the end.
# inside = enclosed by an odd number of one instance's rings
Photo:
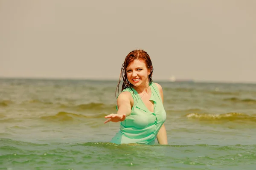
POLYGON ((189 113, 186 114, 187 118, 198 119, 198 120, 208 120, 208 121, 240 121, 240 122, 256 122, 256 116, 249 116, 244 113, 224 113, 224 114, 199 114, 199 113, 189 113))

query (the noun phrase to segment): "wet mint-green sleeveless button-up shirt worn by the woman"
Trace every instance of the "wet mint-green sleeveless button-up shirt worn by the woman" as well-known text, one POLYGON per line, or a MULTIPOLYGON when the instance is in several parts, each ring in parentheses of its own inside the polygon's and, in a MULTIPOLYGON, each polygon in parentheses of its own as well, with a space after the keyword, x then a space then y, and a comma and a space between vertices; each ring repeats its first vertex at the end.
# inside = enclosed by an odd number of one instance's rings
POLYGON ((134 105, 131 114, 120 122, 120 130, 112 138, 112 143, 155 144, 157 133, 166 120, 166 112, 157 85, 152 83, 149 86, 151 88, 150 100, 154 101, 154 113, 148 110, 134 88, 123 90, 131 93, 134 105))

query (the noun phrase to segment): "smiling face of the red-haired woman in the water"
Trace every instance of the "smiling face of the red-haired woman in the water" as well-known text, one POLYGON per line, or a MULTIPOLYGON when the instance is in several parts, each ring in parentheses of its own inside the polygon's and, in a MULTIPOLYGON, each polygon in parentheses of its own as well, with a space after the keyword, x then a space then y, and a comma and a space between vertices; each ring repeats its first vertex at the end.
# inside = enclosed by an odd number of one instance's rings
POLYGON ((146 85, 148 83, 150 70, 146 67, 144 61, 134 59, 134 61, 130 62, 127 66, 126 74, 128 81, 131 82, 132 85, 140 87, 141 85, 146 85))

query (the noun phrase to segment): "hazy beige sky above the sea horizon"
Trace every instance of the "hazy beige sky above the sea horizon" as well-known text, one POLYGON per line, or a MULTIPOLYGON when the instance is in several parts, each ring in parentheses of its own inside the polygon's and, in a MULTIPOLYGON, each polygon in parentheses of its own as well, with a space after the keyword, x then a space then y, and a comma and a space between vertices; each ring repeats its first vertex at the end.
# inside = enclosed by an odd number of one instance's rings
POLYGON ((0 77, 118 79, 141 48, 155 79, 256 82, 255 0, 0 0, 0 77))

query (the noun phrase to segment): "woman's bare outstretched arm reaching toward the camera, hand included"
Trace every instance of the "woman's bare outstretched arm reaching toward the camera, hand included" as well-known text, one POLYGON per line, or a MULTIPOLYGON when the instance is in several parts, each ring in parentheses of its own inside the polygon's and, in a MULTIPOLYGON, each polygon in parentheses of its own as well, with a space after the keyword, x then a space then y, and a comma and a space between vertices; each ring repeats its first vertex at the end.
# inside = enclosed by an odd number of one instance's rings
POLYGON ((131 98, 131 93, 128 91, 124 91, 119 94, 117 98, 117 113, 105 116, 105 118, 108 120, 106 120, 104 123, 124 121, 126 116, 131 114, 131 98))

